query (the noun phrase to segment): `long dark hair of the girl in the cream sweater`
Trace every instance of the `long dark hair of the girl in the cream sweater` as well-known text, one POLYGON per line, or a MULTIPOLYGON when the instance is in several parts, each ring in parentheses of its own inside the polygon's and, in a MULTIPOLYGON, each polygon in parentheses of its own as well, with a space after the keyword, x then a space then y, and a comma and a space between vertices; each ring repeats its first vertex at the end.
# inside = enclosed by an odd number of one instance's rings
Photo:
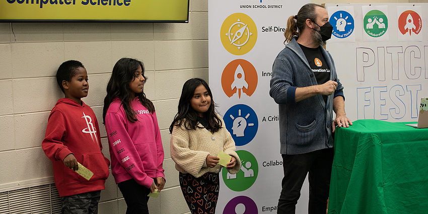
POLYGON ((184 127, 188 130, 192 130, 192 129, 194 130, 196 129, 196 127, 205 128, 197 125, 198 112, 196 112, 190 106, 190 100, 192 99, 195 93, 195 89, 200 85, 203 85, 206 88, 209 96, 211 97, 211 105, 209 106, 208 110, 204 114, 208 123, 206 128, 208 128, 208 130, 212 132, 217 132, 219 131, 220 128, 222 128, 222 120, 217 116, 215 112, 216 104, 212 99, 212 93, 208 87, 208 84, 202 79, 193 78, 186 81, 183 85, 183 89, 181 90, 180 101, 178 101, 178 112, 175 115, 171 125, 169 126, 170 133, 172 133, 172 129, 174 128, 174 126, 181 126, 183 123, 184 123, 184 127))

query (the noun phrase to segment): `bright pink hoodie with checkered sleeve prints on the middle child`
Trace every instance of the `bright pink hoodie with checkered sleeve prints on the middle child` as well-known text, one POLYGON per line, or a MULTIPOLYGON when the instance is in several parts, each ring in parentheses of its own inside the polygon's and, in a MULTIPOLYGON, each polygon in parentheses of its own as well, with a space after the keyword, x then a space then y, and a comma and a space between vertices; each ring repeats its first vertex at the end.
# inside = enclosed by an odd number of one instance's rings
POLYGON ((154 178, 165 178, 161 132, 156 113, 150 113, 138 98, 131 102, 131 108, 136 113, 136 122, 127 119, 121 101, 117 98, 106 113, 111 171, 116 183, 134 179, 138 184, 150 188, 154 178))

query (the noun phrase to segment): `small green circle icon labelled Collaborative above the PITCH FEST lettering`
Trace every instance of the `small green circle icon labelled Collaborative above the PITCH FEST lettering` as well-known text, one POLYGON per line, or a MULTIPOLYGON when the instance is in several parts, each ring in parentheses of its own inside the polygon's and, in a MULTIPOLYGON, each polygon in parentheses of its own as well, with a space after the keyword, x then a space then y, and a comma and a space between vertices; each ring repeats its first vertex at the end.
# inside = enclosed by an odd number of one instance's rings
POLYGON ((364 30, 371 37, 380 37, 388 30, 388 18, 379 10, 372 10, 364 17, 364 30))

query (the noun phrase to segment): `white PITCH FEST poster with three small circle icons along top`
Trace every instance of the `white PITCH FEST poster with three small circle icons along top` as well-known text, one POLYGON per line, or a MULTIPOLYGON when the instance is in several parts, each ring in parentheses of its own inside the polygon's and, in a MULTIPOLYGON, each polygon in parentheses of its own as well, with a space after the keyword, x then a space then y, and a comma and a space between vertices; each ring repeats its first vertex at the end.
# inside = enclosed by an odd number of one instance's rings
POLYGON ((428 4, 326 4, 333 56, 351 120, 417 121, 428 96, 428 4), (347 22, 339 25, 339 18, 347 22), (350 21, 352 20, 352 21, 350 21), (343 28, 339 30, 339 28, 343 28), (349 29, 353 29, 349 31, 349 29), (335 36, 349 34, 354 41, 335 36))

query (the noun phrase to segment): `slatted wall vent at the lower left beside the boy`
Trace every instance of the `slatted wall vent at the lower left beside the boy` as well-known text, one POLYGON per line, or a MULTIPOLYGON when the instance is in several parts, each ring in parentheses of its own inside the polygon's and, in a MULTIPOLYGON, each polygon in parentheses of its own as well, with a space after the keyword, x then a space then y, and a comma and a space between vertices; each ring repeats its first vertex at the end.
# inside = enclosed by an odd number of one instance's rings
POLYGON ((0 193, 0 214, 60 214, 61 199, 55 184, 0 193))

